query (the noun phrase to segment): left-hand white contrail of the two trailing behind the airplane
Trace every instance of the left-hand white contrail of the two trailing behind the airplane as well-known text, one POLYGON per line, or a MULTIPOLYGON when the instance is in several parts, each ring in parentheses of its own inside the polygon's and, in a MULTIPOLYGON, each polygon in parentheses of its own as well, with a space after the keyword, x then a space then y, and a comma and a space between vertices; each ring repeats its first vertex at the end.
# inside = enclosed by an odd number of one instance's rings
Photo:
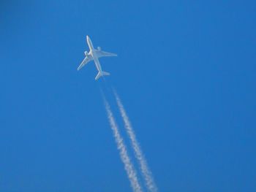
POLYGON ((105 101, 105 108, 108 113, 108 120, 110 122, 110 127, 113 131, 113 135, 116 140, 116 145, 120 153, 121 161, 123 161, 124 163, 124 169, 127 172, 127 176, 132 185, 132 189, 135 192, 142 192, 140 183, 138 182, 137 172, 135 171, 135 168, 129 158, 129 155, 127 153, 127 147, 126 145, 124 145, 123 138, 121 137, 121 134, 118 131, 118 126, 116 124, 115 118, 113 117, 113 113, 110 110, 110 105, 108 104, 108 101, 106 101, 106 99, 104 99, 104 101, 105 101))

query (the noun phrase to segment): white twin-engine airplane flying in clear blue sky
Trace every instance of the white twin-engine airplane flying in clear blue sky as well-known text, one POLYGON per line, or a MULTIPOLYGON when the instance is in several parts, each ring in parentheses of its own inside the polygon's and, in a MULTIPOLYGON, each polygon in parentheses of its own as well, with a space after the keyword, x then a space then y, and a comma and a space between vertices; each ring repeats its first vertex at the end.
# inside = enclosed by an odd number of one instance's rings
POLYGON ((94 60, 94 64, 96 65, 98 69, 98 74, 95 77, 95 80, 98 80, 99 77, 102 77, 104 75, 110 75, 108 72, 103 72, 102 67, 99 64, 99 59, 101 57, 110 57, 110 56, 117 56, 115 53, 108 53, 105 51, 102 51, 100 47, 97 47, 97 49, 94 49, 94 46, 91 43, 90 37, 87 35, 86 36, 87 44, 90 48, 89 53, 86 51, 84 54, 86 55, 86 58, 83 59, 82 63, 80 66, 78 66, 78 70, 80 70, 83 66, 89 63, 89 61, 94 60))

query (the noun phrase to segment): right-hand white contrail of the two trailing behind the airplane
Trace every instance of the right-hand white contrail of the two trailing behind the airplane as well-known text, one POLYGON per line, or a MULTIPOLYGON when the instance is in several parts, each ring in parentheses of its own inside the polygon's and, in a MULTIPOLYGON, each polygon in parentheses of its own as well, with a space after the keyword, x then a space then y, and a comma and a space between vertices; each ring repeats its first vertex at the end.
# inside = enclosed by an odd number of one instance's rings
POLYGON ((124 126, 127 130, 127 134, 129 136, 129 139, 131 140, 132 148, 135 152, 135 157, 137 158, 138 163, 140 164, 140 170, 143 174, 143 179, 145 180, 146 187, 148 188, 148 191, 157 192, 158 191, 157 185, 154 183, 154 179, 151 174, 151 171, 148 168, 146 159, 144 158, 142 150, 140 149, 140 145, 136 139, 135 132, 133 131, 132 125, 129 122, 127 112, 124 110, 124 106, 121 103, 121 99, 119 98, 118 94, 116 93, 116 91, 114 89, 113 89, 113 92, 116 96, 116 102, 117 102, 118 108, 121 112, 121 117, 124 120, 124 126))

